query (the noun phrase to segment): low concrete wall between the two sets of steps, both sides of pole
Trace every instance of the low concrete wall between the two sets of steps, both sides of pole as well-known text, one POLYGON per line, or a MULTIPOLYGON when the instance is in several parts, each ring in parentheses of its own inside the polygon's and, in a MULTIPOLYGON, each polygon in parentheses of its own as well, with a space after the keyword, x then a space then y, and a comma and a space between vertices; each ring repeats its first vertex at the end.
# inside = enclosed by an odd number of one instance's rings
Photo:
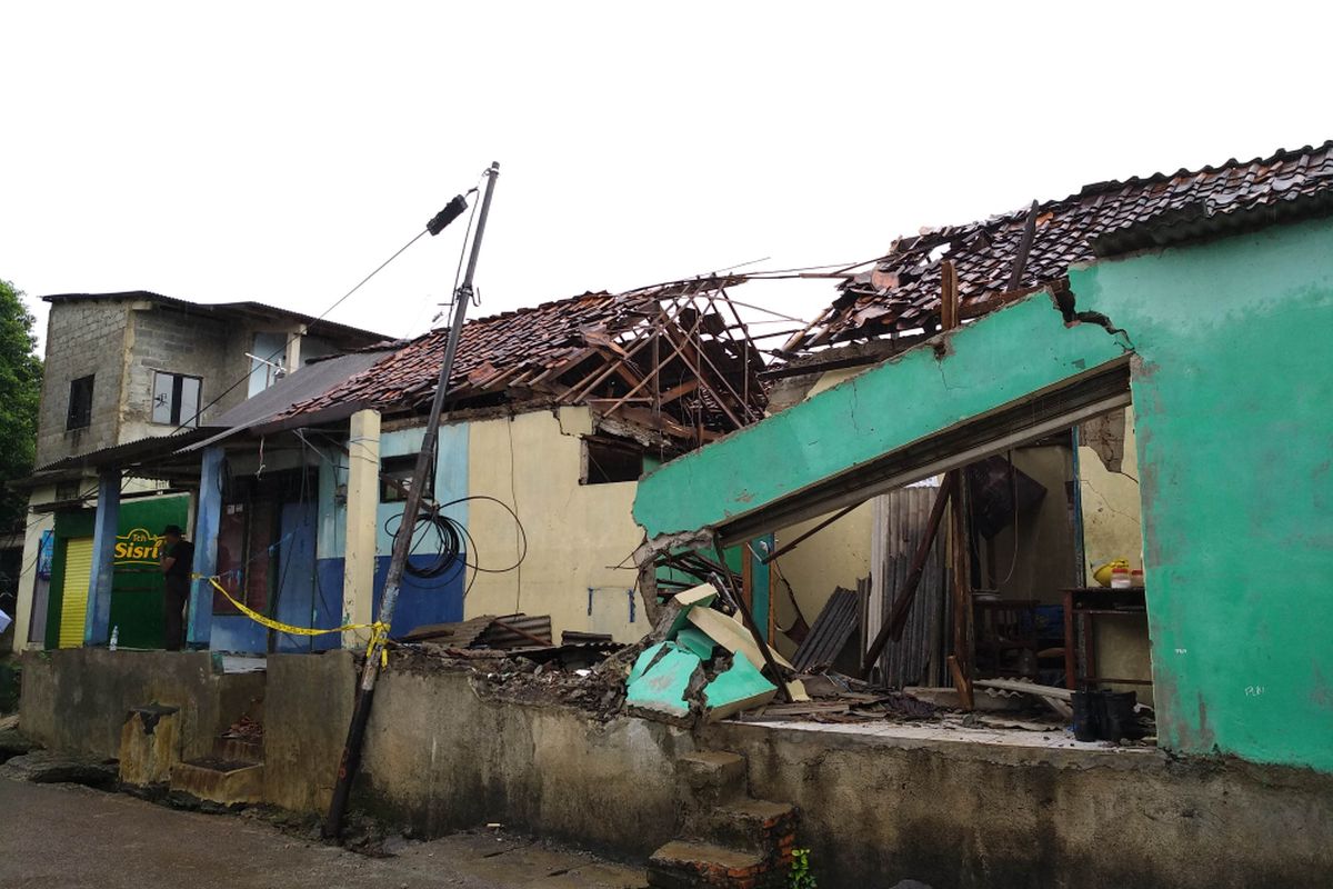
MULTIPOLYGON (((328 808, 355 694, 348 652, 269 657, 265 801, 328 808)), ((395 661, 375 692, 353 808, 419 836, 499 821, 620 857, 676 830, 680 729, 484 701, 464 673, 395 661)))

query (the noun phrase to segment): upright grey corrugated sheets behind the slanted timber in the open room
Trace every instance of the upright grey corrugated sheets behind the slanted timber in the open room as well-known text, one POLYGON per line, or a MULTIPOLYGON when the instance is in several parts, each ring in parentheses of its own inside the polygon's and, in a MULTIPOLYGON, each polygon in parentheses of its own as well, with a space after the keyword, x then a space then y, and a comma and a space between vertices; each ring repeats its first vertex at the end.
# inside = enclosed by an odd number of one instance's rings
MULTIPOLYGON (((890 490, 874 498, 874 525, 870 537, 870 594, 862 646, 874 638, 906 584, 912 558, 921 545, 936 486, 890 490)), ((941 522, 941 529, 946 528, 941 522)), ((948 546, 945 534, 936 536, 916 592, 916 600, 902 629, 902 638, 890 641, 874 665, 876 678, 885 685, 948 685, 945 669, 948 628, 952 608, 948 596, 948 546)), ((865 650, 864 648, 861 650, 865 650)))

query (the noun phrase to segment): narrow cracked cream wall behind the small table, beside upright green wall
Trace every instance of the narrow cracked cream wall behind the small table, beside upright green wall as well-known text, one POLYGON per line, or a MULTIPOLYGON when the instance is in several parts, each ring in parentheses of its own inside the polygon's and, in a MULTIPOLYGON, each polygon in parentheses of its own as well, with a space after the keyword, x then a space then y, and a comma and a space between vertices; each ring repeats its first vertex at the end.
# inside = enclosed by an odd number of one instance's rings
MULTIPOLYGON (((1130 566, 1142 568, 1142 532, 1140 529, 1138 454, 1134 448, 1134 413, 1125 409, 1125 458, 1121 473, 1102 465, 1092 448, 1078 448, 1078 493, 1082 500, 1084 568, 1086 582, 1096 585, 1092 569, 1112 558, 1126 558, 1130 566)), ((1150 580, 1148 582, 1152 582, 1150 580)), ((1148 618, 1114 616, 1093 618, 1097 672, 1120 678, 1152 678, 1148 618)), ((1138 692, 1142 701, 1152 701, 1152 692, 1142 685, 1114 685, 1117 690, 1138 692)))

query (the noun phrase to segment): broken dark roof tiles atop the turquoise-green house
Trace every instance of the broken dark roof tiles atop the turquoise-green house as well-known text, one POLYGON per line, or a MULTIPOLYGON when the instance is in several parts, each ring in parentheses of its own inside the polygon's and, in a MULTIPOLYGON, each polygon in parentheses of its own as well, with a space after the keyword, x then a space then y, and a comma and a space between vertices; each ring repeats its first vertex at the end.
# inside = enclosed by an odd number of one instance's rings
POLYGON ((873 271, 841 285, 842 295, 833 305, 784 349, 904 331, 933 332, 945 259, 957 269, 962 316, 976 317, 1009 296, 1058 283, 1072 264, 1097 255, 1197 236, 1256 212, 1272 221, 1310 204, 1333 208, 1333 141, 1193 172, 1098 183, 1064 200, 966 225, 924 229, 896 240, 873 271), (1029 215, 1034 236, 1017 284, 1010 285, 1029 215))

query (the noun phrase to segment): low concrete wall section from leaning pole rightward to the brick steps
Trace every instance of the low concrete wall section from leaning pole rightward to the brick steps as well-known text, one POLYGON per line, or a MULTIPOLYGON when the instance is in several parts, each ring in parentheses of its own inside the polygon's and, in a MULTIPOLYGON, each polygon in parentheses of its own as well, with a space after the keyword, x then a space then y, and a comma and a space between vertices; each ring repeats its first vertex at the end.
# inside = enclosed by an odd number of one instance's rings
POLYGON ((647 858, 676 832, 689 734, 483 701, 461 673, 391 670, 376 692, 356 802, 437 834, 491 821, 647 858))

